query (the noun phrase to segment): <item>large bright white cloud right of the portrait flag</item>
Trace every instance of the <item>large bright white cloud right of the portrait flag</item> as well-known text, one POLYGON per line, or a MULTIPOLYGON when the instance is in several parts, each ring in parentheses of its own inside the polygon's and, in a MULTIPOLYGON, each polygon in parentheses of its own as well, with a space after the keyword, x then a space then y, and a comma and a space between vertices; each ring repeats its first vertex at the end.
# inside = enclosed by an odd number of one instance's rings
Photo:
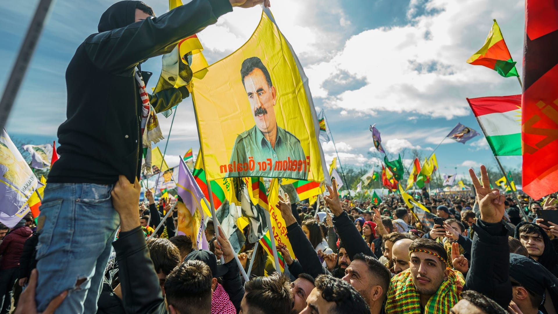
MULTIPOLYGON (((410 15, 424 2, 413 0, 410 15)), ((439 13, 416 17, 407 26, 363 31, 351 37, 334 58, 307 66, 312 94, 323 97, 326 107, 349 114, 416 112, 450 119, 470 115, 465 97, 508 88, 502 87, 496 72, 465 60, 482 46, 493 17, 512 20, 522 14, 521 8, 502 11, 509 8, 509 0, 430 0, 424 5, 427 11, 439 13), (322 83, 342 72, 363 77, 367 84, 326 96, 322 83)), ((522 33, 521 23, 505 26, 507 34, 522 33)))

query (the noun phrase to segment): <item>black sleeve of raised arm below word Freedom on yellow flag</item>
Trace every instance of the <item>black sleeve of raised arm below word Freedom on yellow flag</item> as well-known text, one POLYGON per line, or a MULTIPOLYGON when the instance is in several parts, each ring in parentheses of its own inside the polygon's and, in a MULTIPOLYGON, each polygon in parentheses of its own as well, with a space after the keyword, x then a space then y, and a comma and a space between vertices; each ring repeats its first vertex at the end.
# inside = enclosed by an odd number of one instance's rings
MULTIPOLYGON (((313 278, 326 274, 318 254, 316 254, 316 250, 314 250, 312 244, 304 235, 304 231, 302 231, 299 223, 295 222, 287 226, 287 237, 288 241, 291 242, 292 253, 299 260, 303 273, 307 273, 313 278)), ((297 270, 296 265, 293 265, 292 270, 291 266, 289 266, 288 270, 295 277, 301 273, 300 270, 297 270)))

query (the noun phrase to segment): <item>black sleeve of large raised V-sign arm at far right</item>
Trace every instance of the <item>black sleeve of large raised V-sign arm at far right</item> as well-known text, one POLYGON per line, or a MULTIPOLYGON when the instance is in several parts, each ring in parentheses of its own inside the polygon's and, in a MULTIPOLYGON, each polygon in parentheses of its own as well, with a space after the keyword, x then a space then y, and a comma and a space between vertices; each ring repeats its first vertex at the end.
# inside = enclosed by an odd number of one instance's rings
POLYGON ((480 292, 507 308, 512 299, 508 230, 501 222, 486 223, 480 218, 473 229, 475 238, 463 290, 480 292))

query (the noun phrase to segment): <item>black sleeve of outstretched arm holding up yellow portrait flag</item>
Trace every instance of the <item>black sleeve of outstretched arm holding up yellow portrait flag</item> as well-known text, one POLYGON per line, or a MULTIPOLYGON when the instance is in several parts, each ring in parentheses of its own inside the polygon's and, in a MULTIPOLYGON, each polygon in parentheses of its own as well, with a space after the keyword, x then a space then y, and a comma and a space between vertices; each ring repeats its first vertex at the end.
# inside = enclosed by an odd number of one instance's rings
POLYGON ((228 0, 193 0, 161 16, 89 36, 85 49, 99 69, 122 73, 142 60, 170 53, 180 40, 230 11, 228 0))

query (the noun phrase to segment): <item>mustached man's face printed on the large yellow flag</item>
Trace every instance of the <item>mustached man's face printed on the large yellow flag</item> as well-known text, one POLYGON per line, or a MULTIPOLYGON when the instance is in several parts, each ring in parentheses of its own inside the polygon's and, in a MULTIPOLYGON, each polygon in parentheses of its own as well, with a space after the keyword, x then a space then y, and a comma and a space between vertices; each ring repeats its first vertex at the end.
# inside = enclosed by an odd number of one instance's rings
POLYGON ((270 87, 262 70, 256 68, 244 77, 244 88, 258 129, 263 134, 275 130, 277 126, 273 108, 276 99, 275 87, 270 87))

